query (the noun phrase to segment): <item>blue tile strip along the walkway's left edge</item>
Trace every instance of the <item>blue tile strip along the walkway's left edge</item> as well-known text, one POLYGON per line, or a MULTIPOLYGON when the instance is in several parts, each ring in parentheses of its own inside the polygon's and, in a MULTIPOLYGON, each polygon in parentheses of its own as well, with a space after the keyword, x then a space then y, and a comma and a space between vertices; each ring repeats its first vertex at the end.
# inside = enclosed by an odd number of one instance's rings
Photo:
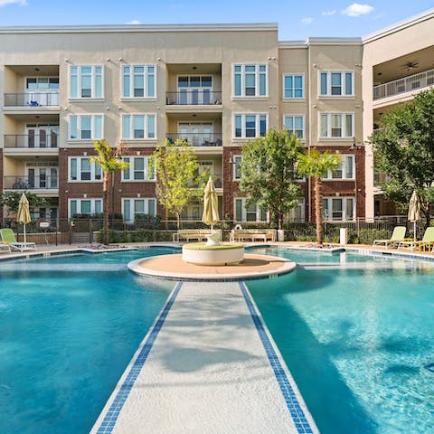
POLYGON ((119 387, 118 393, 114 401, 111 403, 109 410, 107 410, 106 415, 104 416, 104 419, 102 420, 99 429, 97 430, 97 434, 110 434, 115 428, 115 424, 118 420, 120 411, 122 410, 125 401, 127 401, 129 392, 131 392, 131 389, 133 388, 134 383, 137 380, 138 374, 140 373, 143 365, 146 362, 147 356, 151 352, 152 345, 156 342, 156 336, 165 324, 165 318, 167 317, 169 310, 173 306, 175 298, 179 294, 182 285, 183 282, 178 282, 175 285, 172 294, 165 303, 165 307, 163 307, 163 309, 161 310, 160 315, 156 319, 156 322, 154 323, 151 331, 149 332, 149 335, 147 335, 147 339, 143 344, 140 353, 137 355, 137 358, 131 366, 129 373, 127 373, 127 377, 125 378, 122 385, 119 387))

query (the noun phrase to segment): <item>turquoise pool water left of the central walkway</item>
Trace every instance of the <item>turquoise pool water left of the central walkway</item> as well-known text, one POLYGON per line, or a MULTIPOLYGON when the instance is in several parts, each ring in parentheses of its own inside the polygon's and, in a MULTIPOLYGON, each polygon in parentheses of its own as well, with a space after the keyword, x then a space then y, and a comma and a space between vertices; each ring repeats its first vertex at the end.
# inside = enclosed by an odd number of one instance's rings
POLYGON ((89 432, 174 282, 137 278, 152 249, 0 264, 0 432, 89 432))

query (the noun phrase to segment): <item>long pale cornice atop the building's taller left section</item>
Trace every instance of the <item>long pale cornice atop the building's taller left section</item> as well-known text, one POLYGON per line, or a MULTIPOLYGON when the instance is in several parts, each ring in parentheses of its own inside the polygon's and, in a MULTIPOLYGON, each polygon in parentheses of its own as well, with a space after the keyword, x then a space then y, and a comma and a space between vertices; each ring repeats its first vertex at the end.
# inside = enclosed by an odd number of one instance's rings
POLYGON ((278 23, 252 24, 102 24, 5 26, 0 33, 270 32, 278 23))

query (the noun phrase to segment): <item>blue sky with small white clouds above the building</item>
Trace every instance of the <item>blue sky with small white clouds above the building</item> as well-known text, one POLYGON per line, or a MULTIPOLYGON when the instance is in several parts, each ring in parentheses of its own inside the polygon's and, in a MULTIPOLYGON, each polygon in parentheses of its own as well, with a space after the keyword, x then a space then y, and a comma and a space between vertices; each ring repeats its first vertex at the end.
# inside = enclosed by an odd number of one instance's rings
POLYGON ((363 36, 434 7, 434 0, 0 0, 0 25, 279 24, 280 40, 363 36))

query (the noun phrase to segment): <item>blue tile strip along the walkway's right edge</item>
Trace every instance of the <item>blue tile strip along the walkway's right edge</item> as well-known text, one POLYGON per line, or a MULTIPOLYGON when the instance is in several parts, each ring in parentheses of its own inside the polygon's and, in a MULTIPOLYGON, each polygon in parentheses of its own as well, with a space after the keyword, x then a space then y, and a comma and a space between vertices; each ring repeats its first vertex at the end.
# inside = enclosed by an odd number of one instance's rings
POLYGON ((256 308, 253 305, 246 284, 244 282, 240 282, 240 288, 241 293, 246 300, 247 307, 249 307, 251 319, 253 320, 253 323, 258 330, 260 340, 264 345, 265 352, 267 353, 267 356, 269 358, 269 363, 271 364, 274 374, 276 375, 280 391, 282 392, 283 397, 287 402, 287 407, 291 418, 292 420, 294 420, 294 424, 296 425, 297 433, 313 434, 314 430, 311 428, 309 421, 307 420, 306 414, 301 408, 300 403, 298 402, 297 395, 291 387, 290 382, 288 381, 288 376, 282 367, 282 363, 280 363, 279 356, 278 354, 276 354, 273 344, 271 344, 271 341, 269 340, 269 335, 267 334, 262 320, 260 319, 256 308))

